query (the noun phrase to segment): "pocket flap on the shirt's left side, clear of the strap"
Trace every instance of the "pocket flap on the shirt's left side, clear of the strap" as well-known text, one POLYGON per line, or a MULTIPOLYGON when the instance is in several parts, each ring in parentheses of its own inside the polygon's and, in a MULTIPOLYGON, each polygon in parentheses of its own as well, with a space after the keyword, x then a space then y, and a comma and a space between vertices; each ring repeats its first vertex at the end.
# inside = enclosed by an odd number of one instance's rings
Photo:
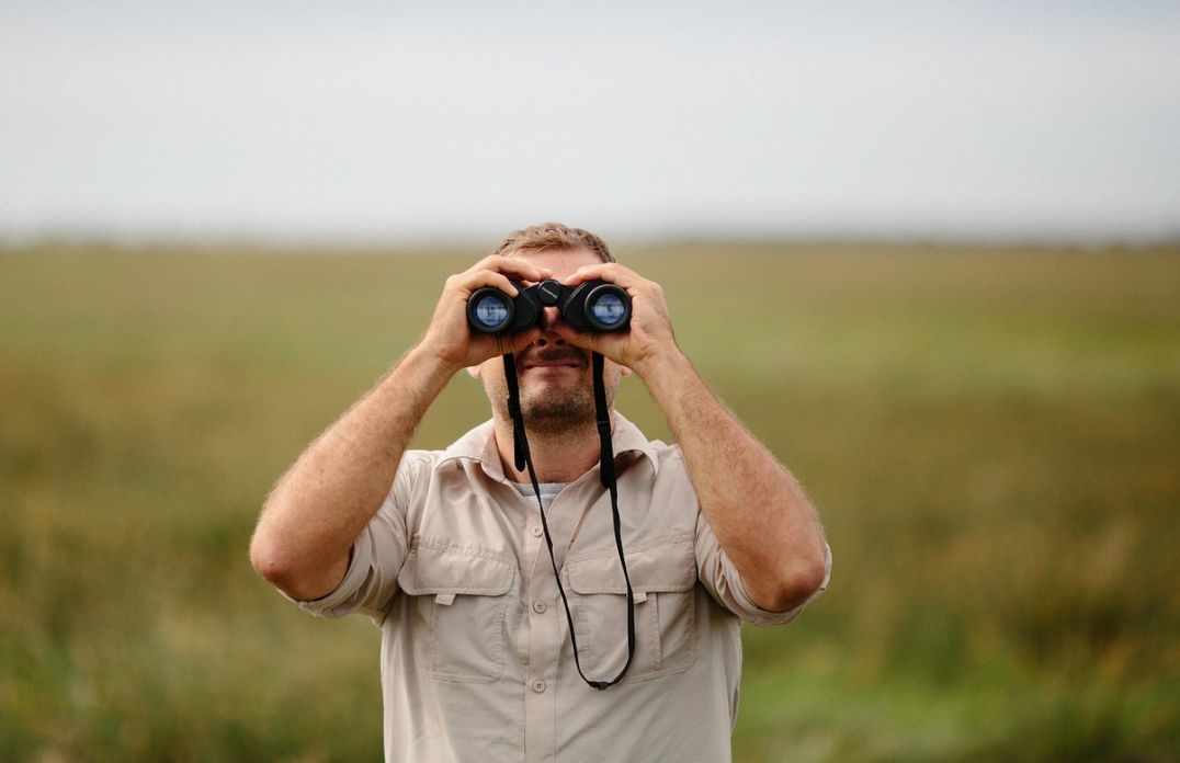
POLYGON ((514 573, 516 565, 494 551, 427 538, 411 548, 398 585, 411 596, 504 596, 514 573))

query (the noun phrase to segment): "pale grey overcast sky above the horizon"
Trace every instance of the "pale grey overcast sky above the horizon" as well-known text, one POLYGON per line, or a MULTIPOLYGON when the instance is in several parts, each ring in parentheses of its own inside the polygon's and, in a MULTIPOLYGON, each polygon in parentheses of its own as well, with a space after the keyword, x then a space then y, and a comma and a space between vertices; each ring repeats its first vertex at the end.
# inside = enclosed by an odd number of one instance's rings
POLYGON ((4 0, 0 238, 1180 233, 1180 2, 4 0))

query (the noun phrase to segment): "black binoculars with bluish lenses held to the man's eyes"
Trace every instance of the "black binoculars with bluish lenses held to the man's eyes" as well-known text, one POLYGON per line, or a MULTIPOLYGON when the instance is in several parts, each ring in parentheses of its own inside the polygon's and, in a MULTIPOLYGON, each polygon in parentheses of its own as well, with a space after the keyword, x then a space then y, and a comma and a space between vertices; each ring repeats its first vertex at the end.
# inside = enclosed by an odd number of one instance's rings
POLYGON ((622 287, 586 281, 568 287, 548 278, 511 297, 496 287, 477 289, 467 300, 467 323, 476 331, 523 331, 540 322, 544 308, 556 307, 562 320, 581 331, 621 331, 631 322, 631 297, 622 287))

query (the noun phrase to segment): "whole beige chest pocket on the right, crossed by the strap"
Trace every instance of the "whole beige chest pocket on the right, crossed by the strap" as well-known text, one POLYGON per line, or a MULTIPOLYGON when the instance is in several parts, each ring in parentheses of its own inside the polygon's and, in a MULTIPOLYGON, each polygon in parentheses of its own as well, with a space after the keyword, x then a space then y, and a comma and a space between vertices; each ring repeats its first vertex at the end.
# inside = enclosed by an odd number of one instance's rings
MULTIPOLYGON (((696 658, 696 557, 690 539, 629 550, 635 658, 622 683, 688 670, 696 658)), ((575 555, 563 570, 586 676, 609 680, 627 663, 627 581, 618 553, 575 555)))

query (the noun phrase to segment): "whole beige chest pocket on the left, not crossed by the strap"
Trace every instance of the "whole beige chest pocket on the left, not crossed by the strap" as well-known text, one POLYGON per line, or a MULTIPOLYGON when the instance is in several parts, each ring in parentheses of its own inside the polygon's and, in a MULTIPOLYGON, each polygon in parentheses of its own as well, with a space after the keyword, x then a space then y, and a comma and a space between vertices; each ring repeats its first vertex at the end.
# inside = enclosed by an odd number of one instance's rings
POLYGON ((419 539, 398 575, 418 669, 492 683, 504 670, 504 614, 516 564, 487 548, 419 539))

